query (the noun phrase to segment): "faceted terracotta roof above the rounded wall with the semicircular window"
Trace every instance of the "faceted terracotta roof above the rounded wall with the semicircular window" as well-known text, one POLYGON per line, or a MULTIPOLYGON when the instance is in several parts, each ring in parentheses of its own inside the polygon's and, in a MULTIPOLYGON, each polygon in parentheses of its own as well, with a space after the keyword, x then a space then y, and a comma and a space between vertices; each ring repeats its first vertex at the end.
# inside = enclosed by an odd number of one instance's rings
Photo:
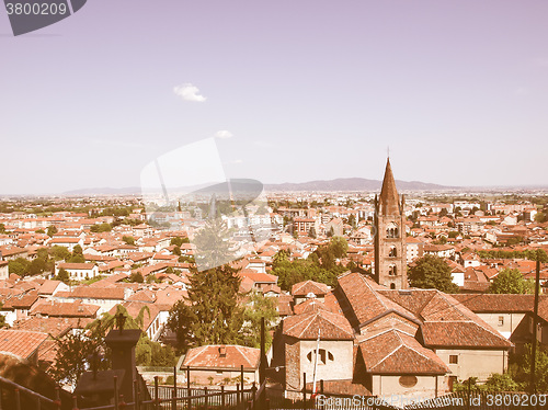
POLYGON ((283 321, 284 334, 296 339, 316 340, 318 330, 322 340, 352 340, 354 331, 346 318, 323 309, 290 316, 283 321))

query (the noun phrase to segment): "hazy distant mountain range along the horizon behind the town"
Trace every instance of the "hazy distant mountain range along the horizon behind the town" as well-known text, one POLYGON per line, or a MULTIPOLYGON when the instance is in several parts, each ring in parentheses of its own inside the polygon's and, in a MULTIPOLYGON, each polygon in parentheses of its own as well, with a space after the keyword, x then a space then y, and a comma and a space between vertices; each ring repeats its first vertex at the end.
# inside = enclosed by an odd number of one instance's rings
MULTIPOLYGON (((266 191, 276 192, 334 192, 334 191, 377 191, 380 190, 383 181, 367 180, 365 178, 339 178, 330 181, 309 181, 299 183, 264 184, 266 191)), ((420 181, 396 180, 399 191, 447 191, 460 190, 460 186, 445 186, 420 181)), ((64 192, 64 195, 140 195, 139 186, 128 187, 92 187, 71 190, 64 192)))

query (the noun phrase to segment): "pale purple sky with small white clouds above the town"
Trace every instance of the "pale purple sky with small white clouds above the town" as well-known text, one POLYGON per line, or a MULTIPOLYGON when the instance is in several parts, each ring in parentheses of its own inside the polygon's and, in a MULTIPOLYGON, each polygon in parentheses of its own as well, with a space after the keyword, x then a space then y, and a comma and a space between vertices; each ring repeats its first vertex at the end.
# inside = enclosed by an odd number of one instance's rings
POLYGON ((173 151, 202 163, 183 182, 208 161, 380 180, 387 147, 399 180, 548 185, 547 16, 545 0, 88 0, 13 36, 1 9, 0 194, 139 186, 173 151), (212 138, 218 153, 184 153, 212 138))

